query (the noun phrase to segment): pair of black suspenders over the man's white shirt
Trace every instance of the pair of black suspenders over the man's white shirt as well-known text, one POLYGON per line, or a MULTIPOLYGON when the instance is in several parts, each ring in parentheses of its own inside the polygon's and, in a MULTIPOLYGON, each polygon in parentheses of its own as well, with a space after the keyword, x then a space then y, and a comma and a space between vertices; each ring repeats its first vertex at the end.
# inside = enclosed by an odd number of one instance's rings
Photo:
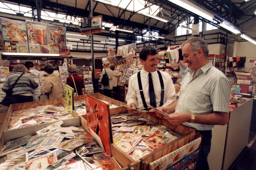
MULTIPOLYGON (((159 76, 159 80, 160 80, 160 85, 161 85, 161 100, 160 100, 160 106, 162 106, 164 104, 164 81, 161 75, 161 72, 159 70, 157 70, 158 76, 159 76)), ((140 78, 140 71, 138 72, 138 84, 139 84, 139 89, 140 89, 140 96, 142 99, 142 103, 145 109, 148 108, 147 104, 146 104, 146 100, 143 94, 143 90, 142 90, 142 84, 141 84, 141 78, 140 78)))

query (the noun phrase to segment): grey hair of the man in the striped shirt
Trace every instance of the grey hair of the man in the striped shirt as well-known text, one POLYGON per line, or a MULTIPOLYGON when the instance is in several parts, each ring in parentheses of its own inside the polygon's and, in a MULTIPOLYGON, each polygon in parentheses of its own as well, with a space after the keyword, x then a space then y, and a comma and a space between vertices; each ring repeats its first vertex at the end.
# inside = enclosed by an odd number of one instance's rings
POLYGON ((207 43, 204 39, 202 39, 202 38, 200 38, 200 37, 191 37, 191 38, 189 38, 187 41, 185 41, 185 42, 182 44, 181 48, 182 48, 186 43, 189 43, 189 44, 190 44, 190 46, 191 46, 191 48, 192 48, 192 50, 193 50, 194 52, 198 51, 198 49, 201 48, 201 49, 204 51, 204 55, 205 55, 206 57, 208 57, 208 55, 209 55, 208 43, 207 43))

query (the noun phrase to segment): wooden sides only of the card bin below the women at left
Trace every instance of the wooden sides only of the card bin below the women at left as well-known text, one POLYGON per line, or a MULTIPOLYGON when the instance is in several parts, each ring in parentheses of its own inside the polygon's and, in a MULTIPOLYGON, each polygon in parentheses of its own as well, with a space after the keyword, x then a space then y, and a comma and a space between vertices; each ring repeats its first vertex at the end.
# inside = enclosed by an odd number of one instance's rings
POLYGON ((37 106, 53 105, 53 104, 55 104, 55 105, 59 104, 61 106, 64 106, 64 104, 65 104, 64 98, 10 105, 10 107, 8 109, 8 113, 6 115, 6 119, 4 120, 4 123, 3 123, 2 130, 0 131, 0 150, 2 150, 4 143, 6 143, 7 141, 9 141, 11 139, 20 138, 20 137, 23 137, 26 135, 35 134, 36 131, 38 131, 44 127, 47 127, 49 125, 52 125, 57 121, 63 121, 62 126, 79 126, 80 125, 80 118, 76 114, 76 112, 73 111, 72 118, 56 120, 56 121, 52 121, 52 122, 44 123, 44 124, 40 124, 40 125, 33 125, 30 127, 23 127, 23 128, 19 128, 19 129, 8 130, 8 126, 10 124, 10 120, 11 120, 13 111, 37 107, 37 106))

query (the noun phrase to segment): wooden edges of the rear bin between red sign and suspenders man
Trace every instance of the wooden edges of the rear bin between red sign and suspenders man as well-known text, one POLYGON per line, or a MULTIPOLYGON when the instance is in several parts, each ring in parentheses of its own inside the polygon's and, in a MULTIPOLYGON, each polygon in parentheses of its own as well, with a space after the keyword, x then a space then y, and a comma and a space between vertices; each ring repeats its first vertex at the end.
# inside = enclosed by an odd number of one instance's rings
POLYGON ((115 114, 118 114, 118 113, 128 112, 127 107, 125 107, 126 104, 123 103, 123 102, 120 102, 118 100, 114 100, 112 98, 109 98, 109 97, 104 96, 104 95, 99 94, 99 93, 88 94, 88 96, 94 97, 94 98, 99 99, 99 100, 105 100, 107 102, 111 102, 111 104, 115 104, 115 105, 119 106, 119 107, 110 109, 110 111, 109 111, 110 115, 115 115, 115 114))

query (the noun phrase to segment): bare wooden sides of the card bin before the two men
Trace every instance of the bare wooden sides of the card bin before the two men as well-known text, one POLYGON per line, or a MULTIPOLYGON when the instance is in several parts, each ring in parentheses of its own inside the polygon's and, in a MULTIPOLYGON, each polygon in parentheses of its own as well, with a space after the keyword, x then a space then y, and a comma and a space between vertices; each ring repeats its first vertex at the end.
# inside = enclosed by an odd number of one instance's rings
POLYGON ((200 137, 200 133, 193 128, 186 127, 184 125, 170 125, 170 123, 166 119, 158 119, 156 117, 152 117, 147 112, 141 112, 139 113, 139 115, 142 115, 142 117, 150 121, 153 121, 156 124, 161 124, 166 127, 169 127, 170 129, 172 129, 172 131, 182 136, 172 141, 171 143, 168 143, 161 149, 155 150, 154 152, 151 152, 150 154, 144 156, 143 158, 137 161, 133 160, 125 152, 120 150, 116 145, 111 144, 112 156, 116 158, 116 160, 122 166, 128 166, 128 167, 130 166, 134 170, 148 170, 149 164, 151 162, 165 156, 166 154, 200 137))

